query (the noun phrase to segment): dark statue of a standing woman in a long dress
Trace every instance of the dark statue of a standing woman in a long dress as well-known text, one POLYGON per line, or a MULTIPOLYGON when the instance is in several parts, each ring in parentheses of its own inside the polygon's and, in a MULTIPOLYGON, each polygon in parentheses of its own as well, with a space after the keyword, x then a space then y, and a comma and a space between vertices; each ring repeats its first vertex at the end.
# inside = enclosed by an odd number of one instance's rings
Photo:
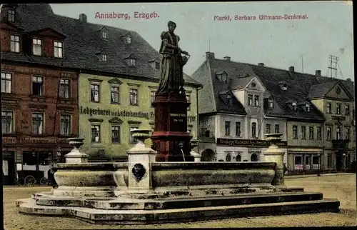
POLYGON ((156 94, 172 91, 183 90, 183 66, 188 61, 186 56, 181 54, 188 53, 178 47, 180 37, 174 34, 176 23, 169 21, 169 31, 161 33, 160 54, 163 58, 161 61, 161 76, 159 89, 156 94))

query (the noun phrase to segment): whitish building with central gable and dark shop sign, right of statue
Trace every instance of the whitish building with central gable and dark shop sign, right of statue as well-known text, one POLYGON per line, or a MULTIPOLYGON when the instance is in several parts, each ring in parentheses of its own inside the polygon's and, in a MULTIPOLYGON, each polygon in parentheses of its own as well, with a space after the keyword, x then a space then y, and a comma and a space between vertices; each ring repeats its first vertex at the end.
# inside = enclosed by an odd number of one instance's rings
POLYGON ((202 161, 259 161, 270 145, 264 134, 274 132, 282 134, 279 145, 287 151, 286 119, 266 113, 269 93, 253 71, 207 52, 192 78, 203 84, 198 91, 202 161))

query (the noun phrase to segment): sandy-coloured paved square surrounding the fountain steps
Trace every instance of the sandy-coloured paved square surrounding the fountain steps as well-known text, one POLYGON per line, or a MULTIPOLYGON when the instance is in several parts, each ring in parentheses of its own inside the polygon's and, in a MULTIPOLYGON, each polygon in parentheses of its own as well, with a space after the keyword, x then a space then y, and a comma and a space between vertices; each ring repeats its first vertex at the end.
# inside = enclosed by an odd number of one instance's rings
POLYGON ((305 191, 321 191, 326 198, 341 201, 340 213, 264 216, 193 223, 158 224, 144 226, 117 226, 89 224, 78 219, 30 216, 19 214, 16 199, 29 198, 36 191, 49 191, 50 187, 4 187, 4 223, 6 229, 119 229, 119 228, 227 228, 278 226, 356 226, 356 174, 328 176, 286 177, 289 187, 303 187, 305 191))

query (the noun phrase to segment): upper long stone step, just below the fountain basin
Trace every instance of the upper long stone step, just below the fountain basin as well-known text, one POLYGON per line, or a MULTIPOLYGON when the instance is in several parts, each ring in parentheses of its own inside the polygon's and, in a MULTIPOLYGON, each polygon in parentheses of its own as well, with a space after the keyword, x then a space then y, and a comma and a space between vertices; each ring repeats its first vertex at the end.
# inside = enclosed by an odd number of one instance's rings
POLYGON ((311 201, 320 200, 322 198, 323 194, 315 192, 241 194, 230 196, 199 196, 166 199, 79 199, 76 197, 37 196, 36 204, 44 206, 79 206, 93 209, 186 209, 205 206, 233 206, 288 201, 311 201))

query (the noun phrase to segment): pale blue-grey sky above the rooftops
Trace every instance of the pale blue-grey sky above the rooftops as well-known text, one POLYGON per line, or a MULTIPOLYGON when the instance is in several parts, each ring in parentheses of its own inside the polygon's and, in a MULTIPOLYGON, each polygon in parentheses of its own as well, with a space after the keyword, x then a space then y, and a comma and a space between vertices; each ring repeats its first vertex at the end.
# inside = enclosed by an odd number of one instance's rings
POLYGON ((86 14, 88 22, 136 31, 158 51, 161 32, 167 31, 168 21, 174 21, 179 46, 191 55, 183 69, 188 75, 203 63, 207 51, 218 59, 230 56, 231 61, 263 63, 278 69, 295 66, 295 71, 308 74, 319 69, 324 76, 331 74, 329 55, 333 55, 338 57, 337 78, 354 81, 352 1, 51 4, 51 7, 55 14, 76 19, 79 14, 86 14), (127 14, 130 18, 104 19, 97 13, 127 14), (153 17, 137 17, 143 14, 153 17), (285 14, 306 19, 285 19, 285 14), (264 15, 281 17, 264 20, 264 15), (242 19, 251 16, 251 20, 235 20, 239 19, 236 16, 242 19))

